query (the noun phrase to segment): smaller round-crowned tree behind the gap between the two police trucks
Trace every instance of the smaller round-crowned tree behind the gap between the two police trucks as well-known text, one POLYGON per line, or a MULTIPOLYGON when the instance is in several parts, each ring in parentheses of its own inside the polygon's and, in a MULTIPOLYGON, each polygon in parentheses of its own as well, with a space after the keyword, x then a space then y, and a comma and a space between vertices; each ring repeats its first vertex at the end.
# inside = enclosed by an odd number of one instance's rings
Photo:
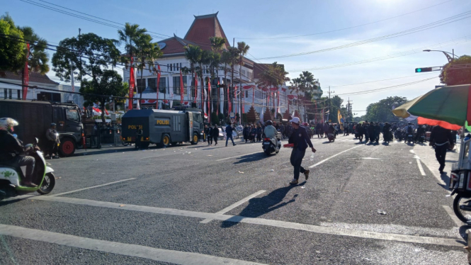
POLYGON ((80 93, 84 93, 85 103, 91 105, 100 102, 101 120, 105 120, 105 105, 113 101, 110 95, 123 97, 127 92, 127 83, 123 84, 123 78, 114 70, 103 70, 100 76, 95 79, 84 80, 80 93), (126 84, 126 85, 125 85, 126 84))

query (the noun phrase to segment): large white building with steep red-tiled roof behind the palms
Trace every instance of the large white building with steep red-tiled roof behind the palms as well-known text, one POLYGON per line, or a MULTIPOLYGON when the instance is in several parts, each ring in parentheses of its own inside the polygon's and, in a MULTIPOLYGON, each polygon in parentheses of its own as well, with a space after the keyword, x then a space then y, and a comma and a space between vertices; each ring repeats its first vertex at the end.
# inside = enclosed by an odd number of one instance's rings
MULTIPOLYGON (((185 47, 187 45, 197 45, 203 50, 210 50, 211 43, 209 38, 213 36, 225 39, 225 49, 230 47, 220 21, 217 19, 217 13, 205 16, 195 16, 195 20, 191 24, 184 38, 179 38, 177 35, 174 35, 174 37, 159 41, 159 46, 164 55, 156 62, 161 67, 158 95, 157 73, 144 69, 141 79, 141 72, 136 71, 137 94, 135 94, 134 105, 137 103, 137 98, 140 97, 140 91, 142 91, 141 106, 152 106, 155 108, 157 106, 157 96, 159 98, 159 108, 162 108, 163 104, 169 105, 171 100, 173 100, 172 103, 174 105, 179 105, 181 101, 180 70, 183 67, 188 69, 190 68, 190 62, 188 62, 185 57, 185 47), (171 97, 171 94, 174 96, 171 97)), ((221 67, 224 67, 224 65, 221 65, 221 67)), ((246 57, 244 57, 244 65, 236 65, 234 67, 234 85, 237 86, 237 94, 241 92, 242 87, 244 113, 249 111, 249 108, 252 106, 252 101, 254 102, 256 112, 261 113, 266 108, 268 91, 262 91, 256 86, 252 89, 252 87, 254 87, 252 85, 256 84, 256 81, 259 79, 259 74, 263 72, 264 69, 266 69, 265 64, 257 64, 246 57), (244 89, 244 87, 246 89, 244 89)), ((129 69, 123 69, 123 72, 124 81, 129 82, 129 69)), ((208 92, 207 77, 210 77, 210 72, 208 68, 205 68, 203 70, 203 89, 205 90, 203 91, 203 95, 205 92, 208 92)), ((195 78, 192 77, 191 74, 183 74, 183 105, 191 105, 191 102, 193 102, 193 99, 197 96, 197 104, 198 107, 200 107, 201 79, 200 77, 198 77, 198 79, 198 89, 195 92, 195 78)), ((230 83, 231 72, 226 72, 225 75, 225 71, 220 69, 217 71, 216 77, 210 79, 212 110, 216 111, 217 105, 219 105, 219 112, 227 115, 228 104, 227 100, 225 101, 225 98, 227 98, 227 89, 220 89, 220 91, 217 91, 216 87, 218 81, 219 84, 230 83)), ((280 113, 283 113, 288 108, 287 95, 289 94, 289 90, 287 86, 283 85, 278 91, 280 92, 280 113)), ((231 98, 234 98, 232 92, 231 98)), ((275 105, 278 106, 278 96, 275 96, 274 91, 273 96, 271 96, 271 100, 273 100, 273 98, 275 98, 276 101, 275 105)), ((237 99, 233 99, 231 112, 242 113, 242 110, 240 109, 242 108, 242 103, 237 103, 237 99)), ((271 101, 269 107, 270 109, 273 108, 273 101, 271 101)))

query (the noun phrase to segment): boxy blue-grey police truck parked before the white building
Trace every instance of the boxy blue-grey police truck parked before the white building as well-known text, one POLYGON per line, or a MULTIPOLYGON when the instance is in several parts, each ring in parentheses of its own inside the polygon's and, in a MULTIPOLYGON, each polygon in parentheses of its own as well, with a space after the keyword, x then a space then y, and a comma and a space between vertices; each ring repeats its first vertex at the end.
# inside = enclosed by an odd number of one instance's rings
POLYGON ((203 115, 198 108, 132 110, 123 115, 122 123, 121 137, 125 143, 135 143, 137 130, 142 129, 141 148, 150 144, 169 147, 181 142, 196 145, 204 133, 203 115))

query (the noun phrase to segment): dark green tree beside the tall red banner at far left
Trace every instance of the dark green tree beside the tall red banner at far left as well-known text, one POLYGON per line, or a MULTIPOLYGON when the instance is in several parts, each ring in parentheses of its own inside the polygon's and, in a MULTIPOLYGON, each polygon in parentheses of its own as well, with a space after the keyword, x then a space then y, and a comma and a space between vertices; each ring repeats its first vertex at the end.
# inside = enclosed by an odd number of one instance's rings
POLYGON ((28 73, 25 72, 24 68, 21 70, 21 80, 24 82, 25 74, 29 74, 30 72, 46 74, 49 72, 49 65, 47 64, 49 57, 45 52, 47 41, 40 38, 38 34, 34 32, 33 28, 18 27, 18 30, 23 32, 24 40, 30 44, 29 51, 27 50, 28 47, 25 48, 25 55, 29 53, 28 58, 25 57, 25 62, 28 62, 28 73))

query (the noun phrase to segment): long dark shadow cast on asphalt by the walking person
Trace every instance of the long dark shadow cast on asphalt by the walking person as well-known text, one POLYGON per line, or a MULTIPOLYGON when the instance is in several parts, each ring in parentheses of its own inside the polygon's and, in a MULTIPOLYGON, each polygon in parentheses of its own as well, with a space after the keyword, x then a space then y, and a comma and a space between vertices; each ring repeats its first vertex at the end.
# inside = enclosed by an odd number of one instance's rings
POLYGON ((238 220, 240 220, 241 217, 243 218, 258 218, 261 215, 264 215, 266 213, 270 213, 272 210, 276 210, 278 208, 281 208, 285 205, 288 205, 289 203, 294 203, 297 197, 297 194, 293 196, 293 198, 290 199, 290 201, 285 201, 282 203, 283 199, 285 198, 286 194, 292 189, 296 188, 297 186, 303 186, 306 184, 306 181, 297 184, 297 185, 290 185, 290 186, 285 186, 283 188, 278 188, 271 193, 268 193, 266 196, 263 196, 261 198, 251 198, 249 201, 249 205, 242 210, 242 212, 239 213, 239 215, 234 217, 234 221, 225 220, 222 222, 221 227, 223 228, 228 228, 232 227, 234 225, 237 225, 238 220))

